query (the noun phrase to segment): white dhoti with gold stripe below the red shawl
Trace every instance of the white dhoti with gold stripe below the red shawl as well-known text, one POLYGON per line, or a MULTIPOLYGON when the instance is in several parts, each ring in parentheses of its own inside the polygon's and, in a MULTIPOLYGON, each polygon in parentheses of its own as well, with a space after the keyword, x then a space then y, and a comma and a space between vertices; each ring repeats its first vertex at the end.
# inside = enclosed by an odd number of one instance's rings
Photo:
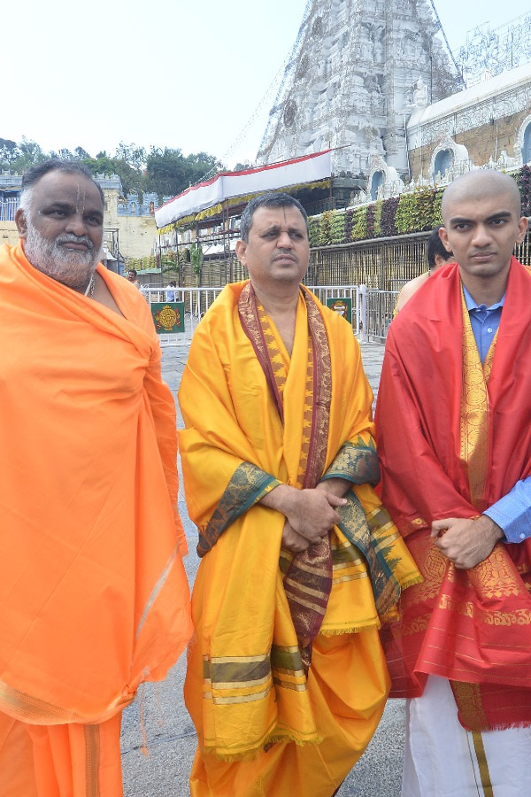
POLYGON ((530 761, 531 727, 466 731, 445 678, 406 701, 402 797, 527 797, 530 761))

